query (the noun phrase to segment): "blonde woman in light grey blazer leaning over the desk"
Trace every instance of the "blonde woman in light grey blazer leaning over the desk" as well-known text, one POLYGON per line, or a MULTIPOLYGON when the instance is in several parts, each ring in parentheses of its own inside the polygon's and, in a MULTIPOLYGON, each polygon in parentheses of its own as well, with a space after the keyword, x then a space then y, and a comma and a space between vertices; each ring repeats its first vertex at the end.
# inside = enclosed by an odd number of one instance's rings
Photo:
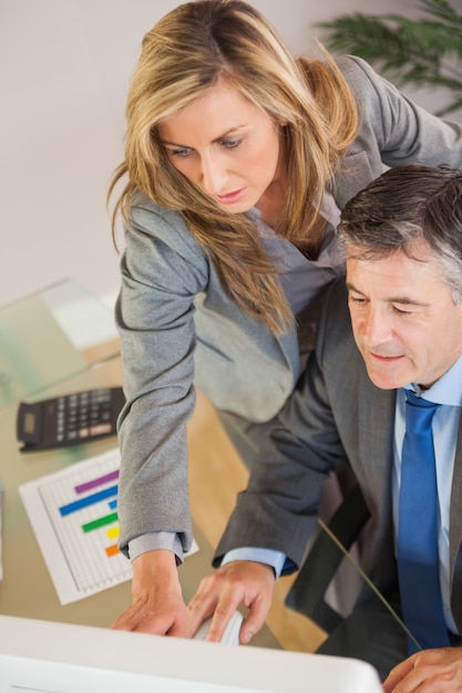
POLYGON ((123 183, 119 515, 133 602, 114 627, 188 635, 176 566, 192 542, 195 386, 254 430, 276 415, 345 271, 341 208, 383 166, 462 166, 462 132, 359 59, 295 59, 242 0, 161 19, 126 120, 110 195, 123 183))

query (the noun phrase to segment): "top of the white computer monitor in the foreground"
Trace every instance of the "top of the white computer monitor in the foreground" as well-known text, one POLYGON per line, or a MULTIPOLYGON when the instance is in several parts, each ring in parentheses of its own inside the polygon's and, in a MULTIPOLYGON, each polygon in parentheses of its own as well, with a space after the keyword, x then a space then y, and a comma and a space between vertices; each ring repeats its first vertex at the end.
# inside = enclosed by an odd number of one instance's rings
POLYGON ((358 660, 0 616, 0 692, 381 693, 358 660))

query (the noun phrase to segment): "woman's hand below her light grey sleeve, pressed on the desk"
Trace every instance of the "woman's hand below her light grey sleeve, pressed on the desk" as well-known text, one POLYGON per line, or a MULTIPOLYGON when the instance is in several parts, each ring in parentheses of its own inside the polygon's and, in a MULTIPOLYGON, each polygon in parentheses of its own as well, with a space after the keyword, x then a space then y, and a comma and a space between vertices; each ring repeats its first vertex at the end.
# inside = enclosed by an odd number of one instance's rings
POLYGON ((111 628, 191 638, 194 629, 183 601, 174 554, 164 549, 147 551, 132 567, 132 604, 111 628))

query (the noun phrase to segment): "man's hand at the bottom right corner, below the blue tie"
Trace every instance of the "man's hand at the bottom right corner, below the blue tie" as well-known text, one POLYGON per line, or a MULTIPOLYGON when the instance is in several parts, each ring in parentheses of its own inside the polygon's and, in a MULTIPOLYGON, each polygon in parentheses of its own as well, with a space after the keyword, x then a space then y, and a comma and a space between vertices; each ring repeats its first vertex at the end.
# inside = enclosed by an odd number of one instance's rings
POLYGON ((384 693, 461 693, 462 648, 417 652, 391 670, 384 693))

